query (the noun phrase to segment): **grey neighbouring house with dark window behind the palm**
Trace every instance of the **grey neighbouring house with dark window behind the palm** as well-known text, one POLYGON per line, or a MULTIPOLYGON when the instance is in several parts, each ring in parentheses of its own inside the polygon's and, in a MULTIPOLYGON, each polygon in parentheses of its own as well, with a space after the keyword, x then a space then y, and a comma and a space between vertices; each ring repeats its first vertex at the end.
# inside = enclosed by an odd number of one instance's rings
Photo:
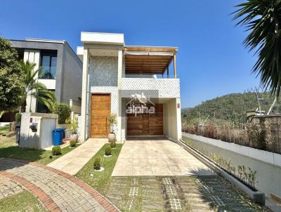
MULTIPOLYGON (((83 64, 67 41, 25 39, 11 40, 11 44, 20 60, 36 63, 35 69, 42 67, 38 81, 55 93, 58 102, 69 104, 72 99, 73 105, 81 105, 83 64)), ((26 112, 48 110, 36 99, 28 97, 26 112)))

